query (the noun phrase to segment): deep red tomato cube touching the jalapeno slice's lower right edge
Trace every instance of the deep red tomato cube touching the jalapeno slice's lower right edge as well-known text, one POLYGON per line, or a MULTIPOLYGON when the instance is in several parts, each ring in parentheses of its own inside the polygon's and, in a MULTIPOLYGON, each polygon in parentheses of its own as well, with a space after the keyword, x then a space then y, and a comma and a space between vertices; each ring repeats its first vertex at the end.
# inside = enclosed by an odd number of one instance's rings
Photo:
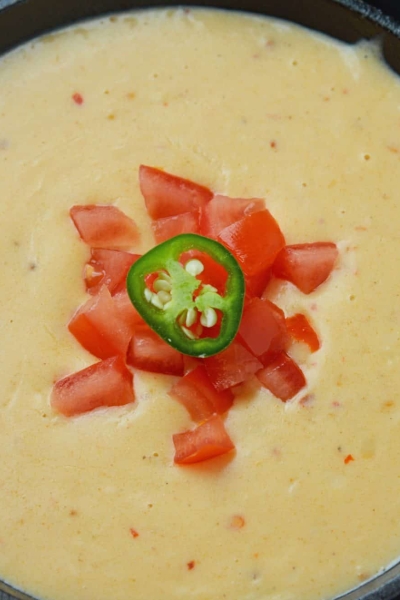
POLYGON ((262 368, 261 362, 237 340, 219 354, 205 358, 204 365, 219 391, 249 380, 262 368))

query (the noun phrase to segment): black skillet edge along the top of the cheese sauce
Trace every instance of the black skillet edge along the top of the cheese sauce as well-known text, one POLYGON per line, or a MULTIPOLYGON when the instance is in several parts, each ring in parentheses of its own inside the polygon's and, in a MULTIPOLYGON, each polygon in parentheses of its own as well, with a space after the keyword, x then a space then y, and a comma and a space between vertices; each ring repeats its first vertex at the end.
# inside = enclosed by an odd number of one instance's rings
MULTIPOLYGON (((375 3, 390 1, 394 0, 375 0, 375 3)), ((84 19, 132 8, 172 4, 212 5, 265 13, 295 21, 349 43, 382 36, 385 46, 386 38, 391 44, 393 36, 400 37, 400 22, 363 0, 318 0, 317 10, 316 7, 310 9, 309 0, 0 0, 0 53, 37 35, 84 19)), ((397 13, 400 20, 399 8, 393 5, 392 12, 397 13)), ((389 52, 385 58, 400 73, 398 54, 396 57, 396 53, 389 52)))

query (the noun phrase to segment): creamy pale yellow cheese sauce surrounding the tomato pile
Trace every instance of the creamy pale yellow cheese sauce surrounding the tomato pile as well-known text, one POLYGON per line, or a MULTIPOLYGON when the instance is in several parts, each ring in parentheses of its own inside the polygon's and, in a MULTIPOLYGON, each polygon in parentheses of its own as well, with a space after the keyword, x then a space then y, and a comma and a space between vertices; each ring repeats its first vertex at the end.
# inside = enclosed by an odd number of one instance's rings
POLYGON ((396 559, 400 87, 376 48, 136 13, 5 56, 0 90, 1 576, 47 600, 322 600, 396 559), (49 403, 95 362, 66 329, 88 256, 68 209, 116 203, 150 248, 140 163, 264 197, 288 243, 341 251, 310 296, 272 290, 323 341, 296 350, 307 390, 246 386, 236 454, 194 467, 172 462, 192 423, 171 378, 137 372, 134 404, 79 418, 49 403))

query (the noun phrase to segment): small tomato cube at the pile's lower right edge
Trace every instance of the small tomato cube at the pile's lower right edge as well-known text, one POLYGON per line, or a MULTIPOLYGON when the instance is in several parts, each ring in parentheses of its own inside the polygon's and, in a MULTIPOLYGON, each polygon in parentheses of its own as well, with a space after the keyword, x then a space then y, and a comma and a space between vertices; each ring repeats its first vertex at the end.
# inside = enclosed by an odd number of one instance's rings
POLYGON ((264 387, 283 402, 293 398, 307 383, 303 371, 285 352, 279 352, 269 359, 268 364, 258 371, 257 377, 264 387))

